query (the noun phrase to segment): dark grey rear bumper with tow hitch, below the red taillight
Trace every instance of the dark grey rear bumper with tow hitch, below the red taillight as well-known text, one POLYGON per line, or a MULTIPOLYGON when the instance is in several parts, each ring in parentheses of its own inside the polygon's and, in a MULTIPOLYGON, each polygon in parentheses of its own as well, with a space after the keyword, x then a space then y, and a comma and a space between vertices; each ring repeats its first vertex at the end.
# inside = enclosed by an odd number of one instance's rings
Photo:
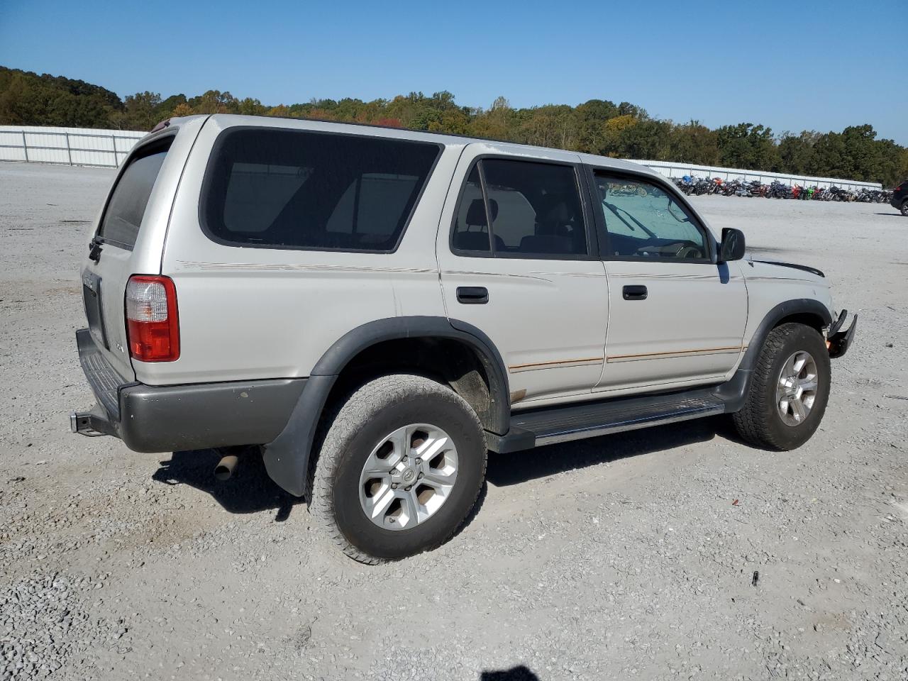
POLYGON ((162 452, 271 442, 287 425, 306 379, 148 386, 104 360, 88 329, 75 332, 79 361, 97 400, 70 429, 113 435, 133 451, 162 452))

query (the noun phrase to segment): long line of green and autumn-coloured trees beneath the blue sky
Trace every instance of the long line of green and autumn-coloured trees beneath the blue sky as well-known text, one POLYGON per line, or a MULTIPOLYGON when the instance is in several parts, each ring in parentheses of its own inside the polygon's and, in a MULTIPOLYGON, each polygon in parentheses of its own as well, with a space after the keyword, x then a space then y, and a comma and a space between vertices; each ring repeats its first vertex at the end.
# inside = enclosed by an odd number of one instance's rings
POLYGON ((209 90, 187 97, 110 90, 63 76, 0 66, 0 124, 150 130, 172 116, 254 114, 372 123, 558 147, 617 158, 703 163, 883 183, 908 177, 908 149, 877 139, 869 124, 841 133, 782 133, 756 123, 711 129, 698 121, 653 118, 635 104, 591 99, 577 106, 516 108, 498 97, 489 108, 461 106, 449 92, 400 94, 392 99, 312 99, 269 106, 209 90))

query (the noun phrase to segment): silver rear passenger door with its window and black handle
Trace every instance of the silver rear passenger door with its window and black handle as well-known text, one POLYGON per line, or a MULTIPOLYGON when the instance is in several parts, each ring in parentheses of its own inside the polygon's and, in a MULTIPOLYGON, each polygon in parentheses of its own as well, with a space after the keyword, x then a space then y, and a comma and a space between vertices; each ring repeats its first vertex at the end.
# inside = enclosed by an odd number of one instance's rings
POLYGON ((608 292, 581 166, 568 153, 493 153, 466 147, 445 203, 437 253, 448 316, 495 343, 515 407, 588 394, 605 358, 608 292))

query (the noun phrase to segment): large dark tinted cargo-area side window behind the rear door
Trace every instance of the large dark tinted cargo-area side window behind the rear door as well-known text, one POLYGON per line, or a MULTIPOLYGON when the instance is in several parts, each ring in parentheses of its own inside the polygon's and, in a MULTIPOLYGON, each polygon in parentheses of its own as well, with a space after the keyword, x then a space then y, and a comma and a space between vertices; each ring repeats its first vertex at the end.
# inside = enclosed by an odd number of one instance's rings
POLYGON ((232 128, 212 153, 202 227, 238 246, 390 252, 439 153, 432 143, 232 128))

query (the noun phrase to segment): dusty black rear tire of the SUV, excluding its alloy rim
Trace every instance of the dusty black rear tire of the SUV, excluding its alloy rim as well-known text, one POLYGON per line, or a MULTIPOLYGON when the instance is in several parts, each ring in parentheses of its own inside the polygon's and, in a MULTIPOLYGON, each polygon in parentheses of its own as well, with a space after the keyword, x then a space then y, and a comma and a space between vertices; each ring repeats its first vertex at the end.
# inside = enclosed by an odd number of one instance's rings
POLYGON ((374 565, 448 541, 469 517, 485 475, 485 433, 466 400, 421 376, 383 376, 353 392, 331 420, 312 474, 309 508, 344 553, 374 565), (413 423, 449 435, 457 449, 457 478, 431 517, 410 529, 381 528, 360 505, 360 474, 382 439, 413 423))

